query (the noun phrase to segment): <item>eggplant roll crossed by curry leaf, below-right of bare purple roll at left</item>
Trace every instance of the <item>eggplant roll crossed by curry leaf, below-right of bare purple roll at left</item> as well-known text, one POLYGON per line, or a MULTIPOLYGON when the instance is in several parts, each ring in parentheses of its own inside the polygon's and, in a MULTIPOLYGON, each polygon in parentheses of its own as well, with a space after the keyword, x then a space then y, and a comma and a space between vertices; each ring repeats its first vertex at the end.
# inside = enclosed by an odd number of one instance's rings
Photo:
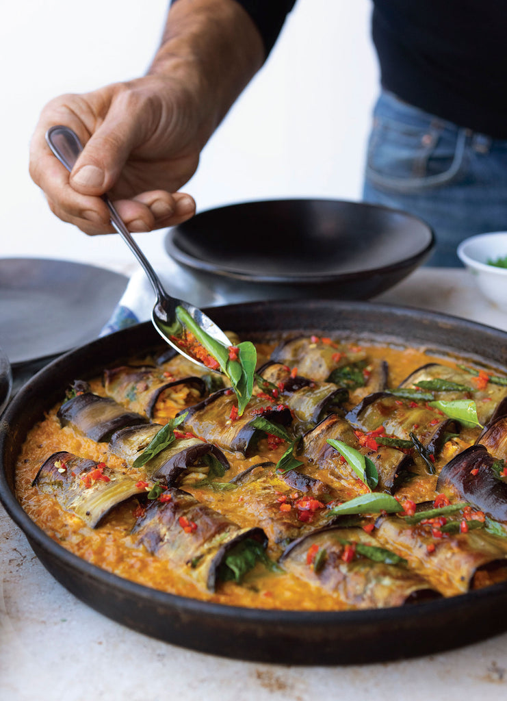
MULTIPOLYGON (((147 423, 141 426, 122 428, 111 437, 109 452, 132 465, 146 450, 148 444, 163 427, 158 423, 147 423)), ((211 454, 223 466, 230 468, 229 461, 216 446, 207 443, 197 436, 174 431, 176 440, 144 463, 142 471, 150 479, 160 479, 167 486, 174 486, 182 472, 202 461, 205 455, 211 454)))

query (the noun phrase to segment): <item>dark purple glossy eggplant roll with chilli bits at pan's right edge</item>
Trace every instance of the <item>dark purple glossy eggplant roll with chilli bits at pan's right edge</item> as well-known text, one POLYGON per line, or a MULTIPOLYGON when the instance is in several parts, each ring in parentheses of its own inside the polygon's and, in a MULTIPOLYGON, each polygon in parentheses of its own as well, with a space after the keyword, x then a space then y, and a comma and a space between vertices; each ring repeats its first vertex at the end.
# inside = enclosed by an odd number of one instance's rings
POLYGON ((507 482, 493 470, 495 458, 482 445, 473 445, 445 465, 437 491, 452 489, 496 521, 507 522, 507 482))

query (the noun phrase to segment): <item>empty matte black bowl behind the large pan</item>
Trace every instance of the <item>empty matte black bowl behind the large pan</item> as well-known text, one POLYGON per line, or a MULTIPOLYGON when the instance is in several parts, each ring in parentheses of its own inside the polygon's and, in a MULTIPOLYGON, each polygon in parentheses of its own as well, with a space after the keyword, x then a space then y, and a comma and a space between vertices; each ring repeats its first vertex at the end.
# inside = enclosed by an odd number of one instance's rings
POLYGON ((369 299, 421 265, 434 237, 421 219, 388 207, 265 200, 201 212, 169 229, 165 244, 201 282, 244 301, 369 299))

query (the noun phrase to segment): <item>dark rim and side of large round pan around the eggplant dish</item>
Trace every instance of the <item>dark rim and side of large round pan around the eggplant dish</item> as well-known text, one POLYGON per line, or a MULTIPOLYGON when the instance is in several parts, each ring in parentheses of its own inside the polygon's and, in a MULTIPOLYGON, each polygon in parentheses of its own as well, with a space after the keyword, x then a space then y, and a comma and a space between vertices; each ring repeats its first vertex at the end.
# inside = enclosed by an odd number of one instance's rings
MULTIPOLYGON (((342 332, 487 358, 507 366, 507 334, 457 318, 368 303, 254 303, 214 308, 223 329, 240 334, 342 332)), ((46 536, 13 494, 15 459, 27 430, 61 399, 69 382, 160 345, 150 323, 71 351, 41 370, 4 414, 0 430, 0 497, 57 580, 79 599, 140 632, 231 658, 298 665, 396 660, 459 647, 507 629, 507 583, 400 608, 375 611, 260 611, 210 604, 151 590, 67 552, 46 536)))

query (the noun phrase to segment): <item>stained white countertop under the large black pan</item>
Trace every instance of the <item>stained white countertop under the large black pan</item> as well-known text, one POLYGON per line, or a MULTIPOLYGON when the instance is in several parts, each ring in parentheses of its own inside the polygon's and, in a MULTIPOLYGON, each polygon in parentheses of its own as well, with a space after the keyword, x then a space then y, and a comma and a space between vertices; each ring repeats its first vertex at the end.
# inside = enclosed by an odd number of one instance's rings
MULTIPOLYGON (((485 301, 461 269, 422 268, 377 301, 507 330, 507 313, 485 301)), ((69 594, 0 507, 2 701, 496 701, 506 695, 507 634, 425 658, 349 667, 240 662, 150 639, 69 594)))

